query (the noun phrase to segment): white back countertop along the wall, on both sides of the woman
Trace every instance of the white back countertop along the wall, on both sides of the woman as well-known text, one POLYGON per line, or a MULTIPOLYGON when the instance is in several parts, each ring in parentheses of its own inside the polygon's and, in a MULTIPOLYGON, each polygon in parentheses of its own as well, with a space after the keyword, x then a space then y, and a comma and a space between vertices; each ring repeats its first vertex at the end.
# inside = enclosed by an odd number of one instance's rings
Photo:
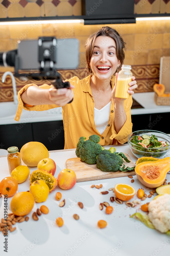
MULTIPOLYGON (((133 98, 144 108, 131 109, 132 115, 164 113, 170 112, 170 106, 158 106, 154 101, 154 92, 135 93, 133 98)), ((27 111, 22 110, 19 122, 15 121, 17 104, 13 101, 0 102, 0 125, 2 124, 20 124, 46 121, 62 120, 62 108, 55 108, 45 111, 27 111)))

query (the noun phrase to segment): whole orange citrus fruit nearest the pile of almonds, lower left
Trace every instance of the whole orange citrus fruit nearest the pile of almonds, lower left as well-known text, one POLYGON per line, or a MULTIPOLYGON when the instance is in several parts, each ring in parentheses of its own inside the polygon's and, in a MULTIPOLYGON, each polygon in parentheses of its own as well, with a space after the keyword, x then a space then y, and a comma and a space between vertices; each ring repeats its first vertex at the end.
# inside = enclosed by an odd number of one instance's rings
POLYGON ((34 206, 34 198, 30 192, 19 192, 11 200, 11 211, 17 216, 30 213, 34 206))

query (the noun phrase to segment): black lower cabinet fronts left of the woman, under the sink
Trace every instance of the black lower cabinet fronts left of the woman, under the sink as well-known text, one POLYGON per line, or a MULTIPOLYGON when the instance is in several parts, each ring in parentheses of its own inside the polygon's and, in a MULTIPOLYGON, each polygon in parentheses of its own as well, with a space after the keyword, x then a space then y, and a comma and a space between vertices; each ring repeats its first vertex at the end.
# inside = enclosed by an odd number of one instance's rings
POLYGON ((0 125, 0 148, 21 147, 30 141, 43 143, 48 150, 64 148, 63 121, 0 125))

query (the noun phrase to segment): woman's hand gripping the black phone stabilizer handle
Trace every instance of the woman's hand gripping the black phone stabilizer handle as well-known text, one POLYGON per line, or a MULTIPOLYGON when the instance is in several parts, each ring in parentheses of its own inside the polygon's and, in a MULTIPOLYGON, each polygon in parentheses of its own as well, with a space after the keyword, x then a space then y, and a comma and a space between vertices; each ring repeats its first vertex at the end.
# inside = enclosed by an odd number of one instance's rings
POLYGON ((60 88, 55 89, 54 86, 49 89, 49 99, 52 104, 56 104, 57 106, 64 106, 69 103, 73 99, 73 89, 74 86, 70 84, 70 88, 60 88))

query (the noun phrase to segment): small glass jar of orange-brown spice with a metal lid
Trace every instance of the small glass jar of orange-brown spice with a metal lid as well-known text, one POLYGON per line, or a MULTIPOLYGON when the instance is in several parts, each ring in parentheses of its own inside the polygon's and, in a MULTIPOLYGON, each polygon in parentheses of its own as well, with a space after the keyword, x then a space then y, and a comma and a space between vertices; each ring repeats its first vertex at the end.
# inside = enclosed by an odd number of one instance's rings
POLYGON ((21 165, 21 156, 18 152, 18 147, 9 147, 7 151, 9 173, 11 174, 12 170, 14 170, 17 166, 21 165))

